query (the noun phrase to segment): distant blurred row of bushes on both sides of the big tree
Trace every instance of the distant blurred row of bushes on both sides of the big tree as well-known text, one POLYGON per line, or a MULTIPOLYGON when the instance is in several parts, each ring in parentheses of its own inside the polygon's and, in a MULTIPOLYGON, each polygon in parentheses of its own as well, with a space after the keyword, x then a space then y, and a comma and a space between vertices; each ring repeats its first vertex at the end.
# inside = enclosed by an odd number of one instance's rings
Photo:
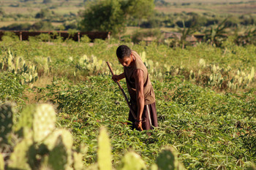
MULTIPOLYGON (((60 26, 53 26, 52 23, 61 23, 63 30, 68 30, 69 28, 80 30, 80 22, 83 18, 83 12, 59 15, 50 9, 41 9, 36 15, 31 14, 6 14, 3 9, 0 9, 0 20, 38 20, 36 23, 12 23, 9 26, 2 26, 1 30, 60 30, 60 26), (40 25, 40 26, 38 26, 40 25)), ((184 26, 189 28, 193 24, 197 27, 208 27, 214 24, 221 23, 222 20, 227 18, 227 15, 215 15, 212 13, 195 13, 195 12, 181 12, 181 13, 170 13, 166 14, 164 12, 154 12, 148 18, 143 18, 141 23, 139 20, 133 20, 131 18, 127 22, 127 26, 140 26, 140 28, 183 28, 184 26), (183 25, 184 21, 184 25, 183 25)), ((227 27, 237 28, 238 26, 254 26, 256 23, 256 18, 253 15, 229 15, 228 20, 225 23, 227 27)))

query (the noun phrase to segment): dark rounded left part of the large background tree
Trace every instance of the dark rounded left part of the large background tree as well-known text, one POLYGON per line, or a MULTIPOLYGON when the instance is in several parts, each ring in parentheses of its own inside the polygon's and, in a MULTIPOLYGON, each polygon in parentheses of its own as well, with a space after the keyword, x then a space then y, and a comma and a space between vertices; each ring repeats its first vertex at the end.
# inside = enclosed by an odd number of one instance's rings
POLYGON ((124 12, 116 0, 91 1, 82 21, 83 31, 110 31, 117 34, 124 26, 124 12))

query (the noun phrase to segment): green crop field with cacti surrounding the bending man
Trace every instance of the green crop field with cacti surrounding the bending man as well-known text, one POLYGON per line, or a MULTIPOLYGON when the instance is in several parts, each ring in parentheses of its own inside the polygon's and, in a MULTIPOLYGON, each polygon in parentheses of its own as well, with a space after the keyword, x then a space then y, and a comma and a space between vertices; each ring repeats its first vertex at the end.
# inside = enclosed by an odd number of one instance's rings
POLYGON ((0 169, 256 169, 255 45, 232 37, 222 47, 126 43, 156 93, 159 127, 151 136, 127 126, 129 109, 105 63, 122 72, 118 45, 4 37, 0 104, 12 104, 0 107, 1 117, 11 115, 0 169))

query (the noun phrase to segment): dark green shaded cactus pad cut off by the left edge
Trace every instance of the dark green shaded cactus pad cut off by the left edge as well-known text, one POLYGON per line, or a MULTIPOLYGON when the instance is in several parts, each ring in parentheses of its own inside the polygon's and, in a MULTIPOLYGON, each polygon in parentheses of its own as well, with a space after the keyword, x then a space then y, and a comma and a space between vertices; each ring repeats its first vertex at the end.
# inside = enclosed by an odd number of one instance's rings
POLYGON ((8 134, 12 131, 12 104, 2 104, 0 107, 0 146, 7 144, 8 134))

